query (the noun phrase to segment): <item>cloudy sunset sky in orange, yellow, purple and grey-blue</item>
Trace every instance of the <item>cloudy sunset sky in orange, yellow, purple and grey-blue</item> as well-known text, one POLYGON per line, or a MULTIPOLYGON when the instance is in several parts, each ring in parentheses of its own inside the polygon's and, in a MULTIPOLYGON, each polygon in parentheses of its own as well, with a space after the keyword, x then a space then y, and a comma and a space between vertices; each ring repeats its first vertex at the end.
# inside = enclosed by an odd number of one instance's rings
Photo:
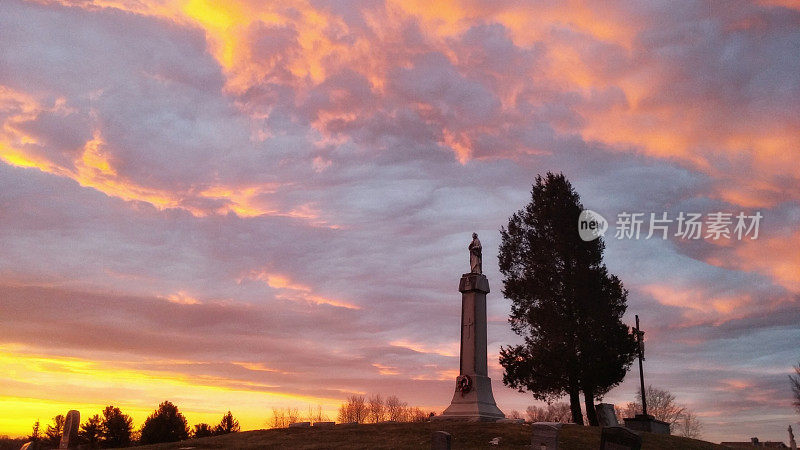
POLYGON ((547 171, 610 222, 647 383, 707 440, 797 428, 793 0, 4 0, 0 124, 0 434, 164 400, 245 429, 354 393, 441 411, 473 231, 498 406, 539 405, 502 385, 497 249, 547 171), (681 212, 763 218, 615 236, 681 212))

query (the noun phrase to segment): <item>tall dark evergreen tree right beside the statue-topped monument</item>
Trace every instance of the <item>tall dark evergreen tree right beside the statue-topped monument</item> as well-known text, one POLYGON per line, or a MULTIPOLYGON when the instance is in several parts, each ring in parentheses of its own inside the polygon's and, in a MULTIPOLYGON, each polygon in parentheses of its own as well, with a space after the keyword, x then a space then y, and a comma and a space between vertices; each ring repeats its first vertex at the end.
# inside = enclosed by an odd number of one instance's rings
POLYGON ((602 263, 601 238, 583 241, 583 205, 563 174, 536 177, 531 201, 501 229, 503 295, 522 345, 501 348, 503 383, 553 401, 569 395, 572 420, 597 425, 594 401, 619 384, 636 343, 622 323, 627 291, 602 263))

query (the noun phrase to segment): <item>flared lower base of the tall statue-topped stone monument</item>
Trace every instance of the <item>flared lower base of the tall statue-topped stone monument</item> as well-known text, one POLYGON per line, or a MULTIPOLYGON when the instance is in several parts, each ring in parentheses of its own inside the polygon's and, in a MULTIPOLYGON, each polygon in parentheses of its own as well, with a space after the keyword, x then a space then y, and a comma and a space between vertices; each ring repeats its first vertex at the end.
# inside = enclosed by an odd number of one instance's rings
POLYGON ((497 404, 492 394, 492 380, 482 375, 470 375, 472 386, 470 390, 453 394, 453 401, 444 410, 441 416, 434 420, 463 420, 470 422, 495 422, 506 417, 497 404))

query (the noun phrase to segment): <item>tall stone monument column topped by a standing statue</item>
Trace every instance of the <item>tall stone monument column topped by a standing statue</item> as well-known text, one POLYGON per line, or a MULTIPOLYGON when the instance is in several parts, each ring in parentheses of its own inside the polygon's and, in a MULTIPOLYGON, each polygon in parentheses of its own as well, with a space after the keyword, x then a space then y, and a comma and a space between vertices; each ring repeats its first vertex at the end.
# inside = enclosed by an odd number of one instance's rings
POLYGON ((492 394, 486 365, 486 294, 489 280, 483 275, 481 241, 472 233, 469 273, 461 276, 461 355, 459 375, 450 406, 438 419, 496 421, 505 418, 492 394))

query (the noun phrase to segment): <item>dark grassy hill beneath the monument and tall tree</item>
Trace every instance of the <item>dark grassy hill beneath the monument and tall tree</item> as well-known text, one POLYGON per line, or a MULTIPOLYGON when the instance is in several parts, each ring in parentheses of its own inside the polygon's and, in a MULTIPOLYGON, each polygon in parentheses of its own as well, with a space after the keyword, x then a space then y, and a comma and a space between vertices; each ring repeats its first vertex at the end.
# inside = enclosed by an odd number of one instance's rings
MULTIPOLYGON (((396 449, 430 448, 433 431, 447 431, 453 435, 453 448, 487 448, 489 441, 500 437, 500 446, 492 448, 524 448, 530 446, 530 425, 509 423, 384 423, 370 425, 336 425, 329 429, 282 428, 245 431, 241 433, 192 439, 172 444, 159 444, 141 449, 396 449)), ((600 428, 565 425, 561 430, 559 449, 591 450, 600 448, 600 428)), ((705 450, 723 449, 710 442, 645 433, 645 450, 705 450)))

